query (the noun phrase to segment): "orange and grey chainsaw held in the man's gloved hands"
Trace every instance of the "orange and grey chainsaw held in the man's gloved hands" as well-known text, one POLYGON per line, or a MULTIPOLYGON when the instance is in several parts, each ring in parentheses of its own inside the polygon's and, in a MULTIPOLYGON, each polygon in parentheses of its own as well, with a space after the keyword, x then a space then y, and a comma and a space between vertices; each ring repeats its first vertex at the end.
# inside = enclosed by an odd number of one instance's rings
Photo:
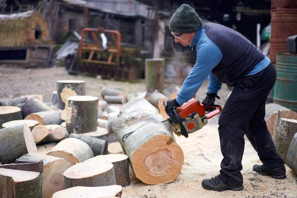
MULTIPOLYGON (((163 102, 165 109, 167 106, 167 101, 163 102)), ((194 133, 201 129, 207 124, 208 119, 217 115, 222 111, 222 107, 217 104, 209 106, 211 112, 205 114, 205 107, 196 99, 190 99, 185 102, 182 106, 177 108, 172 108, 169 114, 169 118, 164 120, 169 121, 171 129, 178 136, 189 137, 190 133, 194 133)))

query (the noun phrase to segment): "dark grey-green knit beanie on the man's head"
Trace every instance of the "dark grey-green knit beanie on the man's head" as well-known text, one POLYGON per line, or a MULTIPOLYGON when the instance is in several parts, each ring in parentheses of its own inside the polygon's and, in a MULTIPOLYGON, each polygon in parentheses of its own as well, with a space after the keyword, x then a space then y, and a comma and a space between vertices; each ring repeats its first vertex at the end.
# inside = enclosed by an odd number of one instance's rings
POLYGON ((202 20, 195 9, 187 4, 182 4, 173 14, 169 22, 169 30, 178 33, 196 32, 202 27, 202 20))

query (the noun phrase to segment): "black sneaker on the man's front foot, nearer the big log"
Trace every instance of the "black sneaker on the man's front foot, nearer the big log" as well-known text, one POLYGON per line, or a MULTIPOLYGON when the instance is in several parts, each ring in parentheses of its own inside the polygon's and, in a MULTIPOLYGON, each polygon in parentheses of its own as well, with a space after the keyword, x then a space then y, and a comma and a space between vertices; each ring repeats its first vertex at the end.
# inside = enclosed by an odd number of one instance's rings
POLYGON ((202 181, 202 187, 210 191, 241 191, 244 189, 243 182, 234 182, 234 184, 228 184, 227 180, 221 176, 221 174, 211 179, 204 179, 202 181))

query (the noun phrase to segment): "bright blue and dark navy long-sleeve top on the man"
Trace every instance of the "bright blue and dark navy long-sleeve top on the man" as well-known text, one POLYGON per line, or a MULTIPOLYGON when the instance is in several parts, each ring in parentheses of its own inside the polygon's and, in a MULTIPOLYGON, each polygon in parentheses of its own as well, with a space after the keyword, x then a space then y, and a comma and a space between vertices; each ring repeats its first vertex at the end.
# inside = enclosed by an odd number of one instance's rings
POLYGON ((232 85, 244 76, 262 71, 270 63, 244 36, 214 23, 203 24, 190 47, 195 45, 197 60, 177 95, 180 105, 196 95, 207 76, 207 93, 217 94, 222 83, 232 85))

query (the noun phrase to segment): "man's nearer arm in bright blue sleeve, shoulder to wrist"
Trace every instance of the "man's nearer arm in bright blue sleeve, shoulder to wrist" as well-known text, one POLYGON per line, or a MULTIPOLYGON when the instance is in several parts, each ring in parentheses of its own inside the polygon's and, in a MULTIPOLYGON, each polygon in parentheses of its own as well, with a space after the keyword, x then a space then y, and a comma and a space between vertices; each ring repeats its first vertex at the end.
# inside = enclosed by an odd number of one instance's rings
POLYGON ((221 50, 209 39, 197 47, 197 60, 189 76, 183 83, 176 101, 180 105, 189 101, 195 96, 204 80, 211 70, 217 66, 222 59, 221 50))

